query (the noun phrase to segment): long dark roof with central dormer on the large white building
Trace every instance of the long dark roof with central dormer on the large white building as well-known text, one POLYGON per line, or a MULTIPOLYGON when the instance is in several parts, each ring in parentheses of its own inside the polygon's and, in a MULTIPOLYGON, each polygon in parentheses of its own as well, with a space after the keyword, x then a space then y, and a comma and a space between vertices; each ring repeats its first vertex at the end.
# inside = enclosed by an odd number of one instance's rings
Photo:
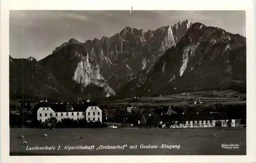
POLYGON ((51 107, 54 112, 85 112, 89 106, 98 106, 102 110, 102 108, 99 105, 95 105, 87 102, 70 103, 70 104, 67 102, 44 103, 41 105, 41 107, 51 107))

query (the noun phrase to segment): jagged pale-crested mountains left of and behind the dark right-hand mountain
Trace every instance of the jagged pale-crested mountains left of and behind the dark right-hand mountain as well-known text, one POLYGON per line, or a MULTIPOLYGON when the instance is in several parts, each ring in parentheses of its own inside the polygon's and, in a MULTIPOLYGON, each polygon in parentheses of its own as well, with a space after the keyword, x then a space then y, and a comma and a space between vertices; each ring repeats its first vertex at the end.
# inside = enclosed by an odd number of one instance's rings
POLYGON ((97 98, 116 95, 130 80, 147 76, 191 24, 179 21, 147 32, 125 27, 112 37, 84 43, 70 39, 38 62, 10 57, 11 98, 23 91, 28 97, 63 99, 84 98, 88 93, 97 98))

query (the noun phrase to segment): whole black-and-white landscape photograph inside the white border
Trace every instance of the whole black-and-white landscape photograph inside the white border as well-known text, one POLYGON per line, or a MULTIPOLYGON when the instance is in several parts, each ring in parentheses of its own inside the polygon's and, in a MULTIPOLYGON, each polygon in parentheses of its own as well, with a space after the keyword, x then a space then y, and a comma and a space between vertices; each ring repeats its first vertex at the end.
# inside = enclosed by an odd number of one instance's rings
POLYGON ((248 154, 246 10, 133 8, 9 11, 10 156, 248 154))

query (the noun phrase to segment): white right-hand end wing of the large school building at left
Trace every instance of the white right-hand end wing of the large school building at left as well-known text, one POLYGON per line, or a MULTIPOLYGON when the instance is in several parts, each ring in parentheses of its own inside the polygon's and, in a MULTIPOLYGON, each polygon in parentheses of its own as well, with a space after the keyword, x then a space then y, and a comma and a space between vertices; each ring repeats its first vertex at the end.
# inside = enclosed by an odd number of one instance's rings
POLYGON ((100 121, 102 122, 102 111, 98 106, 89 106, 86 110, 87 121, 100 121))

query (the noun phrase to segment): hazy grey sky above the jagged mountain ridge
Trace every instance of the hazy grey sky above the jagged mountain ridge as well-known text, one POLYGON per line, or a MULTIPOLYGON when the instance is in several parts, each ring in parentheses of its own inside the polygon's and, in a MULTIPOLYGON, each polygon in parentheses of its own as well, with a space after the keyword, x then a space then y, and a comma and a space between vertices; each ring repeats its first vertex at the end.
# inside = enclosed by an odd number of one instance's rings
POLYGON ((51 55, 63 42, 75 38, 80 42, 113 36, 125 26, 156 30, 180 20, 201 22, 246 37, 245 11, 10 11, 10 56, 51 55))

